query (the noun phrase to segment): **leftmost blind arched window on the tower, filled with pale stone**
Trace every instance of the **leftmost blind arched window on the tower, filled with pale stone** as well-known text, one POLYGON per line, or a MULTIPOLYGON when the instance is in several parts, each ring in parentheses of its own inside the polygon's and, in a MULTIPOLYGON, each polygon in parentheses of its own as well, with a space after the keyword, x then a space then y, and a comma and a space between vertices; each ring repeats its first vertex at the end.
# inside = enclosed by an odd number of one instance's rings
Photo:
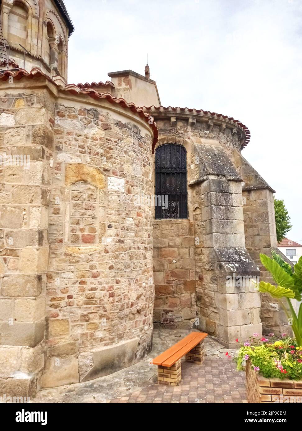
MULTIPOLYGON (((27 9, 22 3, 14 3, 8 16, 8 41, 10 44, 27 44, 27 9)), ((16 45, 17 48, 21 48, 16 45)))

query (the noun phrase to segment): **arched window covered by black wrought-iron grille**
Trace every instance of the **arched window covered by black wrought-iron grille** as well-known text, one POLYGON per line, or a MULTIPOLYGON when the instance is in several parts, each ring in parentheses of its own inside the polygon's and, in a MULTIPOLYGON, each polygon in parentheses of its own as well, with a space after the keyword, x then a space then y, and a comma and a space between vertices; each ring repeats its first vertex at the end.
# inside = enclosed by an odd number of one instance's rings
POLYGON ((155 194, 156 219, 187 219, 187 160, 181 145, 164 144, 156 149, 155 194))

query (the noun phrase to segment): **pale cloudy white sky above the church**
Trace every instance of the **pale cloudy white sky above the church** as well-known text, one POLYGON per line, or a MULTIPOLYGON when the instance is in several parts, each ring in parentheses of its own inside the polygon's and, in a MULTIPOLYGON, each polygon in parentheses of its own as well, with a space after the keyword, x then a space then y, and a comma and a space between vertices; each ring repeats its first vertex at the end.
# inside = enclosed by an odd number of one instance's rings
POLYGON ((163 106, 234 117, 243 156, 284 199, 302 242, 302 0, 65 0, 75 31, 68 82, 150 77, 163 106))

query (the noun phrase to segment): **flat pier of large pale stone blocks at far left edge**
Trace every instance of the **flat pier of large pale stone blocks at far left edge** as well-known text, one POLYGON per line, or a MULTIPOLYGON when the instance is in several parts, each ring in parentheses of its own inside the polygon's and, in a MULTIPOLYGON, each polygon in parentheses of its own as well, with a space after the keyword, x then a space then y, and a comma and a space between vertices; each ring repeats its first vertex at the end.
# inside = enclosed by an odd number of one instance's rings
POLYGON ((0 97, 0 393, 32 396, 44 368, 54 101, 14 84, 0 97))

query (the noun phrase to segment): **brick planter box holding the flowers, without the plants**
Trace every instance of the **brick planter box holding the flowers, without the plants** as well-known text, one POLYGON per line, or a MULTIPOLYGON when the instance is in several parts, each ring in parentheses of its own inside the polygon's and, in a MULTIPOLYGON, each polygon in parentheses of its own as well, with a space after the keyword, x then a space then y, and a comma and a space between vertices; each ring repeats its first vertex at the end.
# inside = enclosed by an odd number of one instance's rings
POLYGON ((265 378, 251 368, 245 367, 248 403, 302 403, 302 380, 265 378))

